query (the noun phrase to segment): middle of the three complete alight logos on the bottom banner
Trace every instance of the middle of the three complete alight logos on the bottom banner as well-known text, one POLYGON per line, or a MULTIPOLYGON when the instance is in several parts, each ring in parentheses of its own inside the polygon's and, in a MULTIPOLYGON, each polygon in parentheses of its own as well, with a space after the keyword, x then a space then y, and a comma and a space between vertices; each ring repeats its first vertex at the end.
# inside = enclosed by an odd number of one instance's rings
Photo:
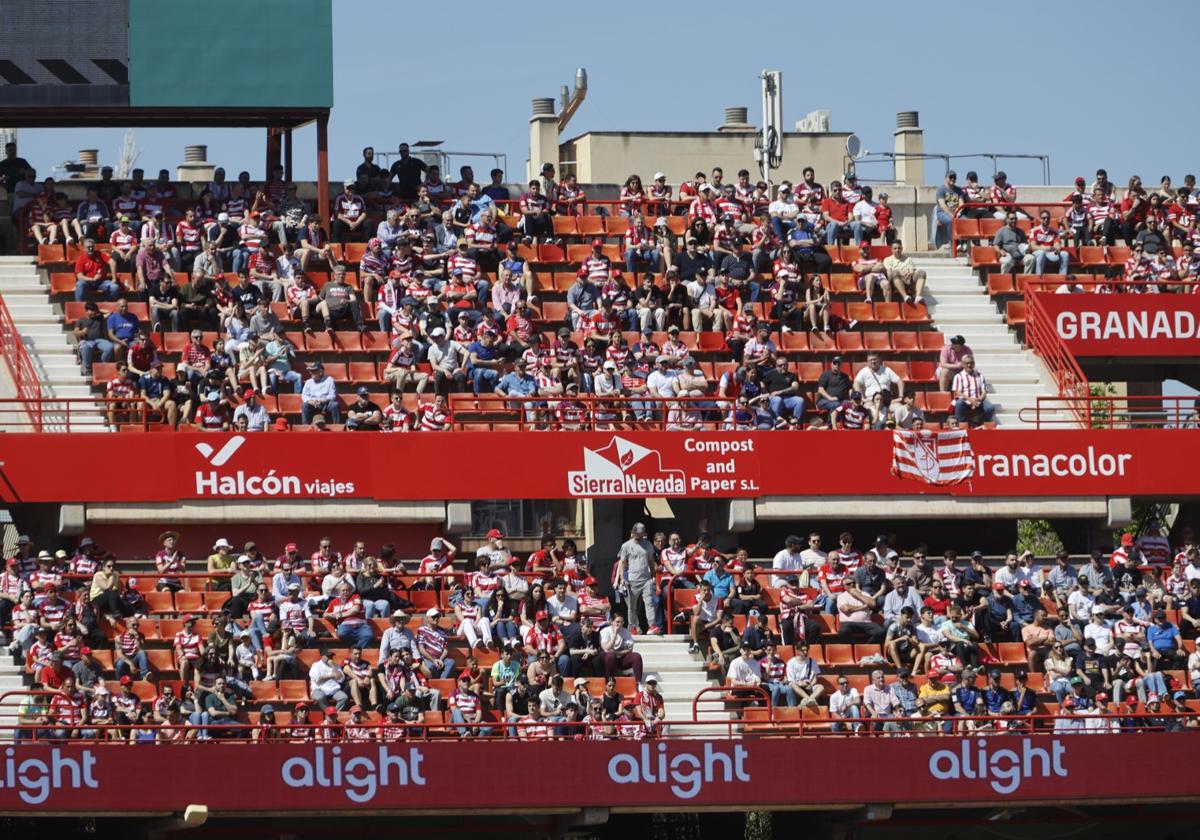
POLYGON ((618 752, 608 760, 608 778, 618 785, 670 785, 680 799, 694 799, 706 784, 750 781, 746 769, 749 750, 740 744, 732 751, 704 744, 702 754, 692 751, 667 755, 667 745, 642 744, 641 752, 618 752))

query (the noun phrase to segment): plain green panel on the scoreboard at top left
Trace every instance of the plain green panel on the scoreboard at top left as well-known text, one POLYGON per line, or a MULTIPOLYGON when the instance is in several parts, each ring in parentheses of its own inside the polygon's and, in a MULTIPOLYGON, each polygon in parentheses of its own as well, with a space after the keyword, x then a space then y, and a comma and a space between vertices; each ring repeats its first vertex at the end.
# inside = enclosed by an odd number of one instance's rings
POLYGON ((128 0, 134 108, 331 108, 332 0, 128 0))

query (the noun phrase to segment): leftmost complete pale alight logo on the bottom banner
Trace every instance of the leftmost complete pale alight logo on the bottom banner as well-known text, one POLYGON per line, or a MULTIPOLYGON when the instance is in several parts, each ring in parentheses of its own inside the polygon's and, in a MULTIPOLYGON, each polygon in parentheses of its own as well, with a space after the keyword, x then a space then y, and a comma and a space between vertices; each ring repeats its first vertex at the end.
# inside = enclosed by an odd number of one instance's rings
POLYGON ((386 746, 380 746, 374 756, 353 758, 343 757, 341 746, 328 751, 324 746, 318 746, 313 750, 312 758, 295 756, 283 762, 280 778, 288 787, 340 787, 347 799, 361 805, 374 799, 379 788, 391 784, 422 787, 424 761, 425 754, 415 746, 409 748, 407 756, 392 755, 386 746))

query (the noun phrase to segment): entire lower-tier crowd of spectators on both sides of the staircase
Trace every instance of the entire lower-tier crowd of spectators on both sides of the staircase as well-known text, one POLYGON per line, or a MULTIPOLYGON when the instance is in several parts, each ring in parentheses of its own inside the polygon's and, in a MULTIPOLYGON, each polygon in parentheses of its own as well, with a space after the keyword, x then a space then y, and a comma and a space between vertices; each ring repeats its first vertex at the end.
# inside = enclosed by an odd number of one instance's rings
POLYGON ((997 565, 946 551, 937 564, 923 545, 901 557, 890 534, 859 550, 842 533, 826 551, 814 532, 790 536, 760 565, 745 550, 718 551, 708 534, 685 545, 678 533, 650 539, 638 523, 614 558, 610 599, 572 541, 546 538, 522 560, 498 530, 466 564, 445 538, 416 564, 394 546, 370 554, 361 541, 342 554, 322 539, 308 557, 288 544, 271 559, 254 542, 235 554, 222 539, 203 569, 168 530, 152 584, 120 575, 90 539, 52 554, 22 538, 0 575, 0 625, 35 685, 54 692, 47 702, 58 712, 34 715, 47 718, 38 731, 60 734, 100 722, 137 739, 134 731, 172 722, 180 737, 206 738, 245 720, 254 684, 296 679, 307 680, 305 704, 338 720, 396 713, 424 725, 424 713, 440 712, 438 722, 462 736, 510 724, 565 736, 562 725, 574 721, 610 733, 634 722, 654 734, 665 713, 636 640, 676 629, 734 697, 755 702, 761 689, 775 707, 811 707, 856 730, 863 721, 852 719, 869 718, 901 719, 881 721, 887 731, 931 716, 998 726, 989 715, 1042 713, 1048 702, 1067 714, 1144 707, 1153 716, 1186 710, 1200 680, 1190 641, 1200 630, 1200 548, 1190 528, 1172 546, 1150 521, 1081 565, 1066 552, 1040 565, 1028 551, 997 565), (193 572, 228 598, 205 632, 184 614, 166 640, 175 683, 151 666, 139 623, 151 618, 148 592, 184 590, 193 572), (414 606, 430 595, 449 608, 414 606), (830 644, 853 644, 858 658, 829 661, 830 644), (997 655, 1006 644, 1019 659, 997 655), (307 649, 317 655, 306 660, 307 649), (862 695, 847 682, 857 668, 872 672, 862 695), (614 695, 625 672, 636 697, 614 695), (1002 684, 1009 674, 1015 688, 1002 684), (600 677, 605 694, 593 697, 588 678, 600 677), (148 704, 133 692, 139 680, 160 683, 148 704), (79 701, 70 727, 65 698, 79 701))

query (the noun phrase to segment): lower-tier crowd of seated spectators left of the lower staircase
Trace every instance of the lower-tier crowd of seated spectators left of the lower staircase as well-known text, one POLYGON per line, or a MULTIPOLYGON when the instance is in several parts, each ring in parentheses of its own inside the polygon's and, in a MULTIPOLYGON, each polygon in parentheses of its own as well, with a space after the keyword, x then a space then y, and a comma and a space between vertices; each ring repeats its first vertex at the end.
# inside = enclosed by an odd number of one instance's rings
POLYGON ((20 538, 0 575, 0 626, 47 692, 26 701, 24 737, 366 740, 420 736, 434 724, 462 737, 660 732, 658 676, 642 673, 624 614, 571 540, 547 538, 521 559, 493 529, 462 570, 445 538, 415 564, 397 559, 395 546, 370 554, 361 541, 343 554, 324 538, 310 556, 288 544, 272 559, 253 542, 236 554, 221 539, 202 578, 187 577, 194 566, 179 533, 160 544, 151 582, 120 575, 89 538, 72 554, 35 553, 20 538), (151 620, 149 592, 188 583, 228 598, 206 618, 182 614, 164 640, 174 680, 151 664, 139 628, 151 620), (428 596, 449 610, 414 607, 428 596), (316 655, 306 659, 307 649, 316 655), (625 672, 631 695, 618 690, 625 672), (589 690, 589 678, 604 690, 589 690), (156 686, 150 700, 134 691, 144 680, 156 686), (238 726, 257 708, 253 686, 282 680, 306 680, 289 712, 299 728, 276 728, 272 703, 257 709, 256 726, 238 726), (320 724, 300 726, 311 710, 323 713, 320 724))

